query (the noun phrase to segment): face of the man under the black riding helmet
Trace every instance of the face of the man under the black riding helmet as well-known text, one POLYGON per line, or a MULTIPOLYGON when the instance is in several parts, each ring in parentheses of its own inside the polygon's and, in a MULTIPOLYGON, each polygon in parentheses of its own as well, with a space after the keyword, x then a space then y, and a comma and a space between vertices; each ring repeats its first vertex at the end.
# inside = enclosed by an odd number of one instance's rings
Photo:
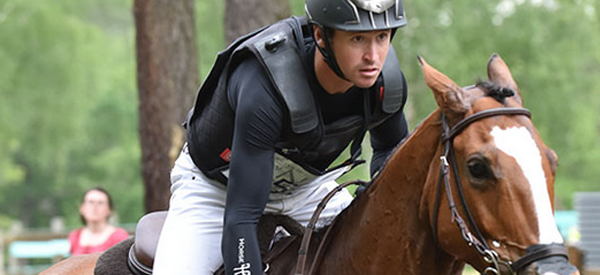
POLYGON ((390 30, 336 30, 331 47, 344 76, 360 88, 373 86, 390 48, 390 36, 390 30))

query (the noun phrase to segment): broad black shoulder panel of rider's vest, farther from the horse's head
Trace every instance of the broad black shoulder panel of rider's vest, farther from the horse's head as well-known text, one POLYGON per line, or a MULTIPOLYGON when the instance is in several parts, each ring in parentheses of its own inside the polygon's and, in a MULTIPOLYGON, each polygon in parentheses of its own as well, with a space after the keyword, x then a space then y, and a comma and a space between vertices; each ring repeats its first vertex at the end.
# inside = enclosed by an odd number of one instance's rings
POLYGON ((317 127, 319 117, 294 34, 301 33, 301 26, 296 19, 285 21, 252 47, 290 112, 292 130, 302 134, 317 127))

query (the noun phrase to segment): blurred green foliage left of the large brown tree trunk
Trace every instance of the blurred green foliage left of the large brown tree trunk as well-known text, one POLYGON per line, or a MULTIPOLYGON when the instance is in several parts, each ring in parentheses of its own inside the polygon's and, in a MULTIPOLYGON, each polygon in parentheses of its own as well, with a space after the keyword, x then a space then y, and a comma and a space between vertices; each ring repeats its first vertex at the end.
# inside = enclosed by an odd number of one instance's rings
POLYGON ((13 38, 0 44, 3 212, 30 226, 47 226, 54 215, 74 225, 84 190, 101 185, 113 193, 137 189, 115 201, 129 206, 122 219, 139 217, 130 6, 0 1, 0 7, 6 12, 0 33, 13 38), (105 11, 111 15, 100 20, 105 11))

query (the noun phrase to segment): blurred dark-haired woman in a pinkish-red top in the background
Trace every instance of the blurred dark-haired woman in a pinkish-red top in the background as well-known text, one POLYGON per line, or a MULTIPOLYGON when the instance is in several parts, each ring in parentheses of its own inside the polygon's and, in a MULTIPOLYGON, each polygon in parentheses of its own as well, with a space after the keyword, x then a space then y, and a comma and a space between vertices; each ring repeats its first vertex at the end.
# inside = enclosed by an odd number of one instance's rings
POLYGON ((129 237, 125 229, 109 223, 113 203, 110 194, 101 187, 85 192, 79 206, 81 221, 85 225, 69 234, 71 255, 103 252, 129 237))

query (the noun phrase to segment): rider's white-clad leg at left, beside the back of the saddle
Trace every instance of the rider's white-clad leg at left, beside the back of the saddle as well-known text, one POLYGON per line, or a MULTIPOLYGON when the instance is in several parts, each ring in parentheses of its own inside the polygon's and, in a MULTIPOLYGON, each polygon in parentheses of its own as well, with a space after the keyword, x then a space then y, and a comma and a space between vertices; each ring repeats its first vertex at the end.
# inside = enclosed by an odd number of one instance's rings
POLYGON ((173 167, 171 182, 153 274, 212 275, 223 263, 225 186, 204 176, 186 149, 173 167))

